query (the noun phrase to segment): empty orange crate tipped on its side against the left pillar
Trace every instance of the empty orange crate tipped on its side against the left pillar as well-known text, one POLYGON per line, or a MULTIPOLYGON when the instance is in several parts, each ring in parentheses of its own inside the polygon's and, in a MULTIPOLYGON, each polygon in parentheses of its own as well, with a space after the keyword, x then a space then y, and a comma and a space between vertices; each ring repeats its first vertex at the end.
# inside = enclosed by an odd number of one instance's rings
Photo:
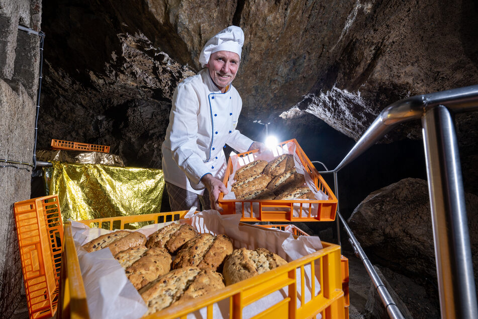
POLYGON ((23 280, 30 318, 51 317, 58 305, 61 222, 58 196, 14 204, 23 280))

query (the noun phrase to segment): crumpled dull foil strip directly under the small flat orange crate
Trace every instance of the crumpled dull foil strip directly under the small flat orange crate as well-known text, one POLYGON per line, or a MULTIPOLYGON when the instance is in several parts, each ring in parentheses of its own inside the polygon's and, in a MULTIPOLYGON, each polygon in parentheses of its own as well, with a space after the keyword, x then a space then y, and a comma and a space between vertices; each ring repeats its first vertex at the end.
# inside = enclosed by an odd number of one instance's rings
POLYGON ((120 156, 104 152, 49 149, 38 150, 36 154, 37 161, 125 166, 120 156))

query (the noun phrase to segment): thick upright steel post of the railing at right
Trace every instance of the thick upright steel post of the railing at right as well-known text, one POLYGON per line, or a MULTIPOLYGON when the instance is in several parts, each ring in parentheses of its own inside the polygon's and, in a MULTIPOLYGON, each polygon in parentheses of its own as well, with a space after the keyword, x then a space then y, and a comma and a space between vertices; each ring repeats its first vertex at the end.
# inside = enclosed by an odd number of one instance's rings
POLYGON ((442 105, 422 117, 442 318, 476 318, 478 306, 453 119, 442 105))

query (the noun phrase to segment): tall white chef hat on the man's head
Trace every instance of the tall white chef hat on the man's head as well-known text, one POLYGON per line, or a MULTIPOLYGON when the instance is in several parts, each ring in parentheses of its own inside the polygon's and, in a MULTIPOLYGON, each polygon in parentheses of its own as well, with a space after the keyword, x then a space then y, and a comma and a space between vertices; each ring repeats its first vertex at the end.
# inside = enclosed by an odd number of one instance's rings
POLYGON ((242 45, 244 44, 244 32, 241 28, 230 26, 222 30, 206 42, 199 55, 199 62, 204 67, 209 63, 209 57, 217 51, 230 51, 237 53, 241 59, 242 45))

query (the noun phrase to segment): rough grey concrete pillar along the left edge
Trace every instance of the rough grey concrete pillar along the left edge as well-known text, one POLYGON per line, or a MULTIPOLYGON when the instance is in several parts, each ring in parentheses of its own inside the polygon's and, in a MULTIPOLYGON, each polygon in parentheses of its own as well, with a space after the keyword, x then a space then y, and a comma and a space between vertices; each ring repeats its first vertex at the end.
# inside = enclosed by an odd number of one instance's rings
MULTIPOLYGON (((0 158, 32 163, 38 88, 40 0, 0 0, 0 158)), ((8 166, 7 163, 0 163, 8 166)), ((30 198, 31 168, 0 167, 0 313, 9 318, 22 291, 14 202, 30 198)))

